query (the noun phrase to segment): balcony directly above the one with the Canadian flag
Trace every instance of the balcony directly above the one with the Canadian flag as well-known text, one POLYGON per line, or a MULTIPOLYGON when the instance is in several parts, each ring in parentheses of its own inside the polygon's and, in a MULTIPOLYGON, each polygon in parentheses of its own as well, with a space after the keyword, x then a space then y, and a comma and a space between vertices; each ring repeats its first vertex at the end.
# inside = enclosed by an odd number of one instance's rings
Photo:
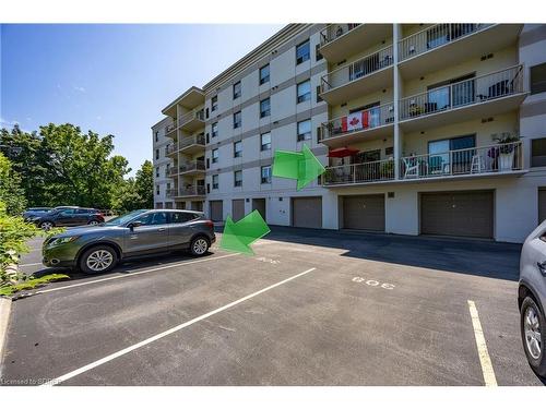
POLYGON ((330 105, 392 86, 392 46, 341 67, 321 80, 321 97, 330 105))

